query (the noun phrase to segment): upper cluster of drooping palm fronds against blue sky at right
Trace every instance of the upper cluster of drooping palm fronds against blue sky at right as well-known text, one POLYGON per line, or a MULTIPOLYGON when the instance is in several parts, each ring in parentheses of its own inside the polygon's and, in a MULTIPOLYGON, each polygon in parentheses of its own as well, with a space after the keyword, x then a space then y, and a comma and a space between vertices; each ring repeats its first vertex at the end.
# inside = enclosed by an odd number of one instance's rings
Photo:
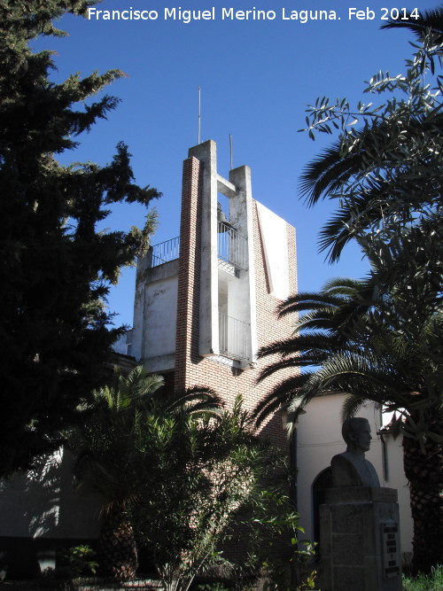
POLYGON ((358 149, 346 152, 338 141, 305 167, 300 197, 307 206, 315 206, 323 198, 337 199, 339 204, 319 235, 320 251, 328 252, 330 262, 338 261, 352 239, 370 232, 389 238, 411 223, 420 226, 431 212, 441 215, 439 179, 443 166, 440 155, 434 157, 432 151, 441 144, 443 113, 436 110, 420 117, 397 114, 405 121, 377 120, 361 129, 358 149), (399 137, 402 124, 410 145, 392 142, 392 137, 399 137), (415 152, 416 163, 401 159, 403 151, 415 152), (371 162, 374 154, 377 157, 371 162), (427 163, 425 167, 420 159, 427 163))

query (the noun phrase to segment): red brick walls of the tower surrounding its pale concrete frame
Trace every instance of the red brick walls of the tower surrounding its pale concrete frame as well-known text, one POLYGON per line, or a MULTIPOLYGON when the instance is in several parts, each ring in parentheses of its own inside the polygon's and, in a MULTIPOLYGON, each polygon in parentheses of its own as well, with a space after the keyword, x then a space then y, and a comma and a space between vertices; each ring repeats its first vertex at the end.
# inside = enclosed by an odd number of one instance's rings
MULTIPOLYGON (((272 362, 259 360, 253 369, 244 371, 229 367, 221 361, 202 358, 198 354, 198 307, 201 244, 201 197, 203 164, 193 157, 183 163, 183 202, 181 220, 181 254, 178 276, 177 341, 175 356, 175 387, 206 385, 221 395, 228 405, 237 394, 245 401, 245 408, 252 410, 257 402, 286 376, 268 377, 257 384, 260 369, 272 362)), ((295 230, 287 224, 288 249, 290 253, 291 292, 297 289, 295 230)), ((287 338, 291 335, 293 319, 277 320, 276 306, 280 300, 270 295, 257 206, 253 201, 253 244, 255 258, 255 290, 257 307, 258 346, 287 338)), ((280 416, 273 416, 262 425, 261 432, 275 443, 285 447, 286 439, 280 416)))

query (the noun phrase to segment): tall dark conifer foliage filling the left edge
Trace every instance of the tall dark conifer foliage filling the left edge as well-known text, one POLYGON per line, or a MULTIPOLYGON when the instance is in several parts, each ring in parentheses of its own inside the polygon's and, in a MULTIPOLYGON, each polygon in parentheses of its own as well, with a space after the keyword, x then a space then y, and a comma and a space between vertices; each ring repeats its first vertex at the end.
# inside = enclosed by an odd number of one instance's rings
POLYGON ((64 35, 52 21, 84 15, 92 4, 0 0, 0 358, 8 416, 0 476, 58 447, 58 431, 79 420, 79 400, 104 383, 122 331, 109 328, 105 299, 155 226, 151 212, 144 229, 97 230, 113 204, 148 206, 159 197, 134 183, 124 144, 105 167, 56 159, 115 108, 114 97, 91 97, 123 74, 74 74, 55 84, 52 52, 33 53, 28 43, 64 35))

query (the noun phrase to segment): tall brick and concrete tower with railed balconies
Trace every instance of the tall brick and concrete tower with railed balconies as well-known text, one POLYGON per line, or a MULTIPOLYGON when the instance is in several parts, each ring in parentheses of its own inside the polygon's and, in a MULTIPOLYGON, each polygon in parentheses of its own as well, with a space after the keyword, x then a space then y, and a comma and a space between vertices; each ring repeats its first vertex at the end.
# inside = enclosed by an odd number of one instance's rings
MULTIPOLYGON (((270 378, 257 384, 270 362, 257 352, 290 336, 291 320, 278 320, 276 306, 296 290, 294 228, 253 199, 249 167, 227 180, 217 174, 215 143, 198 144, 183 162, 180 237, 138 261, 128 353, 167 387, 206 385, 227 404, 241 394, 253 409, 272 387, 270 378)), ((262 432, 283 443, 281 417, 262 432)))

